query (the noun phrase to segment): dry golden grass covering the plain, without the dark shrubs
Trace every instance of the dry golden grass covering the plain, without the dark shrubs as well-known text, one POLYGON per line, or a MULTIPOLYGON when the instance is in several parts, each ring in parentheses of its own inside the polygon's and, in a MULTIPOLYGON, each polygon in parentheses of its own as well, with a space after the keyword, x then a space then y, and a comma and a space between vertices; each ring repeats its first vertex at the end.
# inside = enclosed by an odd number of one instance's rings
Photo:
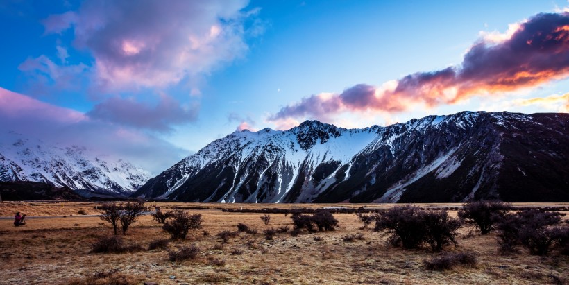
MULTIPOLYGON (((192 214, 203 215, 203 228, 192 232, 185 241, 170 242, 165 250, 90 254, 90 247, 96 239, 112 234, 112 228, 96 216, 81 216, 78 210, 97 214, 94 207, 101 204, 64 202, 62 205, 38 202, 0 204, 0 216, 13 216, 15 211, 22 211, 28 216, 54 216, 30 218, 23 227, 14 227, 10 219, 0 220, 0 284, 105 284, 104 280, 93 281, 93 276, 108 270, 117 270, 116 274, 130 284, 551 284, 553 280, 549 275, 569 279, 569 257, 557 256, 557 253, 550 257, 533 257, 525 250, 521 254, 502 256, 498 254, 493 234, 465 239, 462 236, 466 236, 468 230, 461 230, 459 246, 447 250, 477 252, 479 264, 472 268, 436 272, 423 268, 423 260, 436 254, 427 249, 390 248, 384 245, 384 237, 377 232, 359 230, 361 224, 355 214, 334 214, 340 225, 334 232, 303 233, 296 237, 276 234, 272 241, 267 241, 262 231, 285 225, 292 228, 289 216, 271 214, 271 222, 264 225, 260 214, 226 213, 214 209, 339 205, 159 203, 162 211, 172 207, 212 209, 189 210, 192 214), (237 223, 249 225, 259 234, 243 232, 229 239, 223 249, 214 249, 221 243, 216 234, 223 230, 236 231, 237 223), (359 232, 364 234, 363 241, 343 241, 343 236, 359 232), (321 237, 321 241, 315 241, 315 236, 321 237), (196 259, 169 261, 169 250, 192 243, 201 248, 196 259), (242 253, 232 254, 239 251, 242 253), (170 276, 175 276, 175 279, 170 276)), ((450 205, 456 206, 459 204, 450 205)), ((124 243, 138 243, 146 248, 151 241, 167 238, 169 235, 151 216, 142 216, 130 227, 124 243)))

